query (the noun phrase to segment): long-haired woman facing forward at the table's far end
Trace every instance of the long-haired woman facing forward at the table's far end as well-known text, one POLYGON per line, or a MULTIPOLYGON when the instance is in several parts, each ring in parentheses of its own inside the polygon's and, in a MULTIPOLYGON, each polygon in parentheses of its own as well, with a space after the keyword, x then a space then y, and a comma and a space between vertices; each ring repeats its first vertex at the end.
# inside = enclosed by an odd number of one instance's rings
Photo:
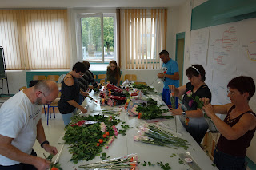
POLYGON ((120 85, 121 72, 117 62, 112 60, 106 69, 106 82, 113 85, 120 85))

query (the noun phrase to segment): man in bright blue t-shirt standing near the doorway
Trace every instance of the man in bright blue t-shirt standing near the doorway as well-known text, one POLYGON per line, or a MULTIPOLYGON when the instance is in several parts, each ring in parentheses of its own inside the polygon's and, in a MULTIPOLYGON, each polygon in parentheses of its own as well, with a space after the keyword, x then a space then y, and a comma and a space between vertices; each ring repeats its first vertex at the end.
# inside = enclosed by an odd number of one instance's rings
MULTIPOLYGON (((158 78, 161 78, 164 86, 162 89, 162 101, 166 105, 170 106, 170 93, 168 85, 179 86, 179 74, 178 74, 178 63, 169 57, 169 53, 166 50, 162 50, 159 53, 159 57, 162 60, 162 73, 158 73, 158 78)), ((178 101, 176 97, 176 101, 178 101)))

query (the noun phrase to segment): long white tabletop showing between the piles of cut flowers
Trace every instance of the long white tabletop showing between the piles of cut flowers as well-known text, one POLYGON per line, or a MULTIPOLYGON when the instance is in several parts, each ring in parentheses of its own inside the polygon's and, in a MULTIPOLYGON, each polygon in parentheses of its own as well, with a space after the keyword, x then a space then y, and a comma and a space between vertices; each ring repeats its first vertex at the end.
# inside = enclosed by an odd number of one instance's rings
MULTIPOLYGON (((92 92, 90 94, 91 97, 94 97, 95 99, 98 98, 98 93, 92 92)), ((159 101, 161 97, 158 97, 159 101)), ((89 105, 89 113, 92 110, 100 110, 100 109, 110 109, 110 106, 100 106, 95 105, 94 102, 91 102, 90 99, 86 97, 86 100, 82 103, 82 106, 89 105)), ((118 106, 116 106, 118 108, 118 106)), ((190 168, 186 163, 180 164, 179 163, 179 156, 178 154, 190 152, 190 156, 194 159, 194 161, 199 165, 199 167, 202 170, 210 170, 210 169, 218 169, 214 167, 212 164, 213 162, 210 160, 210 158, 206 155, 206 152, 202 150, 202 148, 196 143, 196 141, 190 136, 188 132, 186 132, 186 129, 183 128, 181 122, 179 121, 177 117, 177 132, 182 133, 183 139, 187 140, 190 144, 189 148, 185 150, 184 148, 167 148, 167 147, 161 147, 151 144, 144 144, 142 142, 135 142, 134 141, 134 135, 136 135, 138 129, 136 128, 141 120, 138 119, 138 117, 128 117, 126 113, 121 113, 120 116, 118 116, 119 119, 122 121, 125 121, 126 124, 123 125, 129 125, 130 127, 134 127, 131 129, 127 129, 126 136, 118 135, 116 139, 114 139, 114 142, 110 145, 108 149, 103 148, 102 152, 106 152, 107 156, 110 156, 111 158, 120 157, 120 156, 126 156, 131 153, 137 153, 138 154, 138 161, 143 163, 151 162, 157 163, 162 161, 163 164, 169 163, 170 167, 172 169, 178 169, 178 170, 186 170, 186 169, 192 169, 190 168), (176 156, 170 157, 171 155, 176 154, 176 156)), ((170 128, 172 128, 175 132, 175 121, 174 119, 170 119, 168 121, 163 122, 165 125, 168 125, 170 128)), ((117 125, 118 128, 121 128, 121 125, 117 125)), ((63 134, 64 135, 64 134, 63 134)), ((58 143, 63 143, 62 137, 58 140, 58 143)), ((65 144, 62 154, 60 156, 59 162, 62 164, 62 168, 64 170, 70 170, 70 169, 82 169, 78 168, 81 164, 90 164, 97 161, 100 161, 99 156, 95 157, 94 160, 90 161, 79 161, 78 164, 73 164, 70 162, 71 154, 68 151, 68 145, 65 144)), ((140 170, 157 170, 161 169, 160 166, 154 165, 154 166, 148 166, 145 167, 139 164, 138 168, 140 170)))

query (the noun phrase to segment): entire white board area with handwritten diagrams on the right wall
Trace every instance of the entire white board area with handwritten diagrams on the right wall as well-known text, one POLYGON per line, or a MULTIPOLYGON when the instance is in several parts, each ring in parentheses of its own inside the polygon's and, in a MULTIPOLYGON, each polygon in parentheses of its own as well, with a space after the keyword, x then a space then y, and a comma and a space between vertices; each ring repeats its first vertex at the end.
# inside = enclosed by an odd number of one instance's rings
MULTIPOLYGON (((192 30, 190 63, 206 70, 213 105, 230 103, 227 84, 241 75, 256 80, 256 18, 192 30)), ((250 107, 256 112, 256 94, 250 107)))

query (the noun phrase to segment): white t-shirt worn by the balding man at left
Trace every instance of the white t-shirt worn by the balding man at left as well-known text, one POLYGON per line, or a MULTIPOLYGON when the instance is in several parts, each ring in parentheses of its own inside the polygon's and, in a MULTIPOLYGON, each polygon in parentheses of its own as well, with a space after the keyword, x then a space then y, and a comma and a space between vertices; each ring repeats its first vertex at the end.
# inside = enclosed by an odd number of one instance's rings
MULTIPOLYGON (((31 154, 41 113, 42 105, 34 105, 23 91, 18 92, 2 104, 0 134, 14 138, 12 145, 22 152, 31 154)), ((19 162, 0 155, 0 164, 9 166, 19 162)))

